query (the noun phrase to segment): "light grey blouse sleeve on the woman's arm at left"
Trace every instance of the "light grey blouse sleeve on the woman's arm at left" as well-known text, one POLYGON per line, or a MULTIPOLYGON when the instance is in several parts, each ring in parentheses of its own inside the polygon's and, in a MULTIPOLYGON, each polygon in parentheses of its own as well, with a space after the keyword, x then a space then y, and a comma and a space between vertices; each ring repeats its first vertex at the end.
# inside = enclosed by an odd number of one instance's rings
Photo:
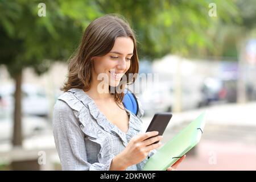
POLYGON ((53 136, 63 170, 108 171, 114 155, 104 163, 88 163, 84 133, 73 110, 58 100, 53 110, 53 136))

